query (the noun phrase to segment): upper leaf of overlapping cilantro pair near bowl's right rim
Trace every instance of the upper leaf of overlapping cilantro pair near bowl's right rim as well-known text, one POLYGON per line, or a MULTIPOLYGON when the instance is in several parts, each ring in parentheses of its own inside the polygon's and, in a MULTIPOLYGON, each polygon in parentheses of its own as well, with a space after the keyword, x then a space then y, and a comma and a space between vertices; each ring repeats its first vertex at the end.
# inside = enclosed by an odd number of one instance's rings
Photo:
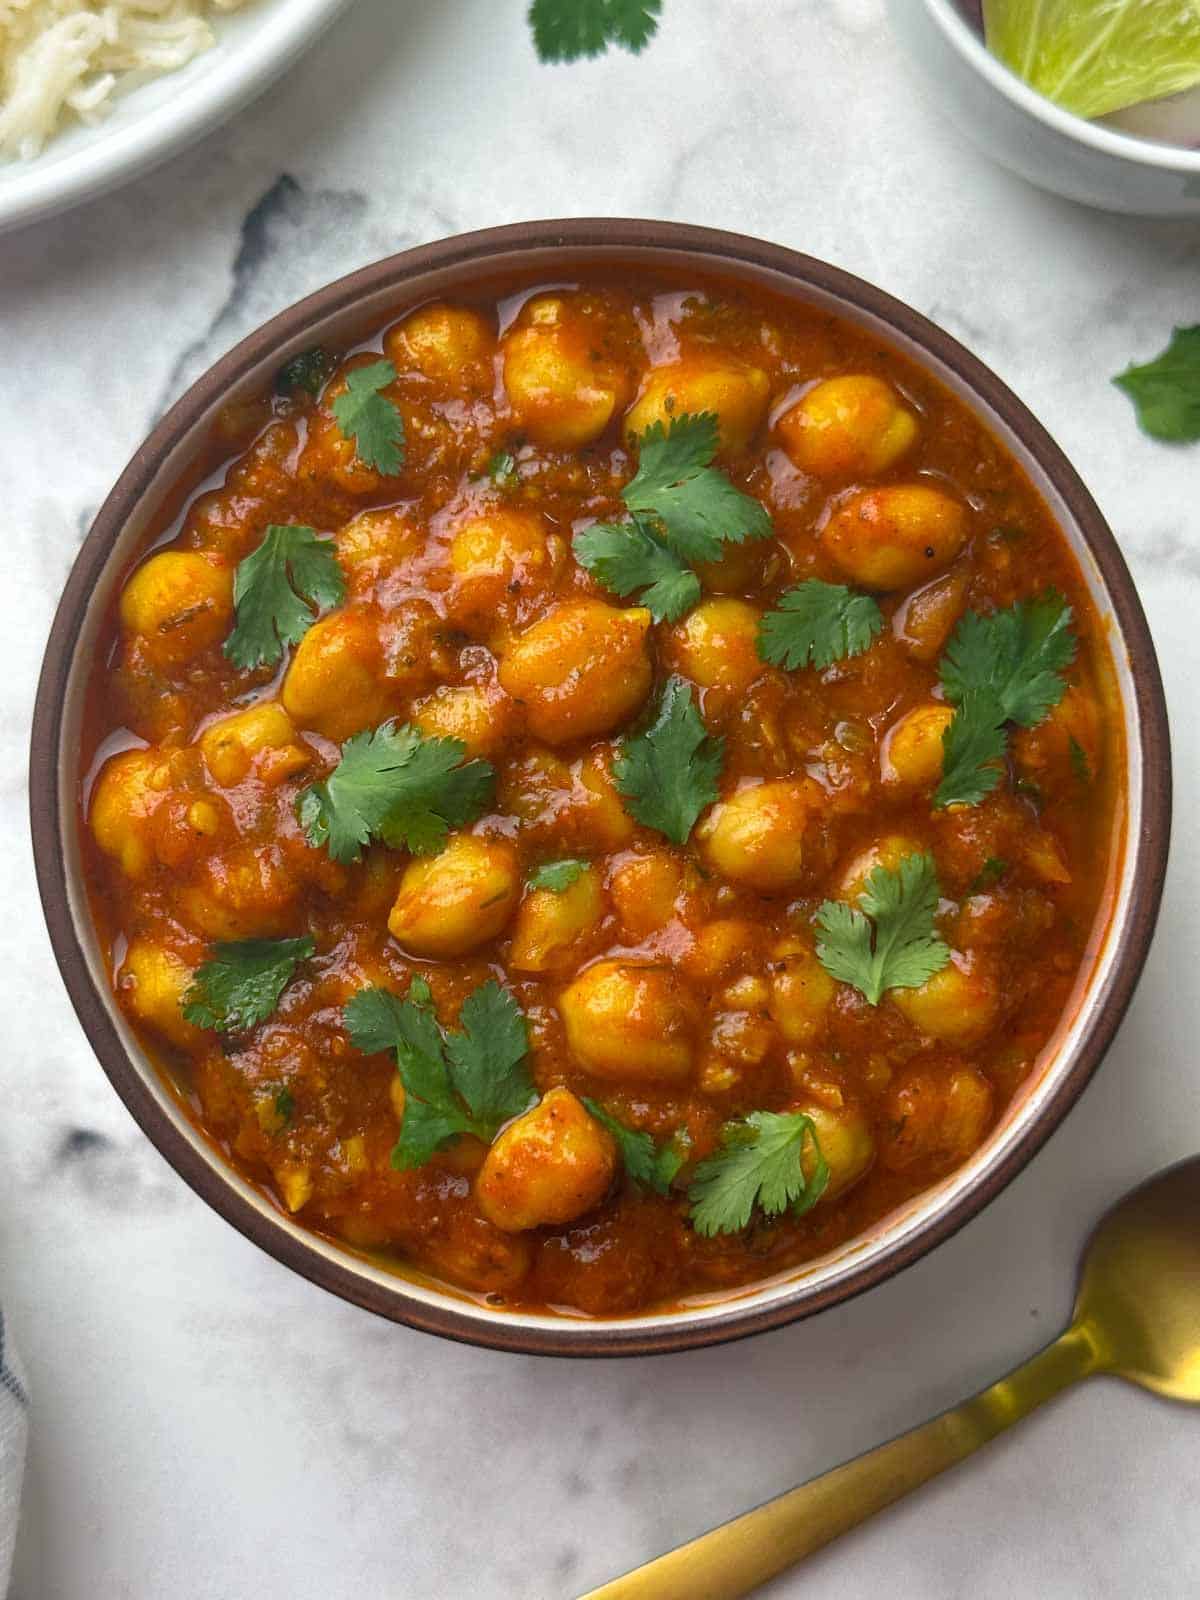
POLYGON ((966 611, 941 662, 947 701, 957 706, 970 690, 989 691, 1006 722, 1035 726, 1066 694, 1062 672, 1075 659, 1070 621, 1054 589, 990 616, 966 611))

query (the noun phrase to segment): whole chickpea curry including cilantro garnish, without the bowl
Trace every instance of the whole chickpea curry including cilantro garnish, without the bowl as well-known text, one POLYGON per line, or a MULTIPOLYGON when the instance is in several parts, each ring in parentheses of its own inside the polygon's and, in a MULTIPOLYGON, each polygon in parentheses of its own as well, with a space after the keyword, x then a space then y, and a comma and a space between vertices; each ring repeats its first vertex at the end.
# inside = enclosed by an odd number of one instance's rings
POLYGON ((307 350, 213 448, 120 592, 82 803, 120 1005, 280 1208, 606 1317, 987 1139, 1086 976, 1123 749, 962 402, 626 272, 307 350))

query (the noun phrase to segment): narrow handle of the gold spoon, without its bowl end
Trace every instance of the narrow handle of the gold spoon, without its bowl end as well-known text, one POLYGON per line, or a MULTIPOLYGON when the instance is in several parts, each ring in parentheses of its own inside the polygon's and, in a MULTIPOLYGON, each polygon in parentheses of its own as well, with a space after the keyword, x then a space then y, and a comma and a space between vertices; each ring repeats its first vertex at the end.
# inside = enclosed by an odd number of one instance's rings
POLYGON ((1075 1323, 1024 1366, 952 1411, 680 1544, 579 1600, 736 1600, 747 1595, 1104 1365, 1091 1330, 1075 1323))

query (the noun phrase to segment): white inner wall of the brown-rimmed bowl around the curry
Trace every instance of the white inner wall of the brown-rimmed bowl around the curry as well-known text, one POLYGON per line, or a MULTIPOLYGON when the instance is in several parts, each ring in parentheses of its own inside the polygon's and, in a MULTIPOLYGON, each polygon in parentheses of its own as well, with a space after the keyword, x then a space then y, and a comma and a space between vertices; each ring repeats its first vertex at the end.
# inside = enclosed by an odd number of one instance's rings
MULTIPOLYGON (((571 250, 546 250, 541 253, 533 253, 522 250, 518 258, 520 269, 534 272, 541 266, 541 258, 544 258, 544 270, 547 278, 555 277, 563 280, 565 264, 571 261, 571 250)), ((579 248, 574 251, 574 258, 586 261, 589 264, 603 264, 606 251, 597 250, 595 246, 579 248)), ((1080 562, 1080 568, 1091 590, 1091 597, 1096 605, 1096 611, 1101 618, 1102 626, 1109 630, 1109 640, 1114 654, 1114 674, 1120 694, 1120 702, 1125 714, 1125 738, 1128 752, 1128 768, 1126 768, 1126 795, 1128 806, 1125 816, 1125 846, 1114 853, 1114 872, 1118 872, 1118 880, 1115 882, 1112 893, 1112 914, 1104 930, 1096 934, 1096 957, 1085 970, 1085 978, 1080 981, 1077 994, 1072 1005, 1067 1008, 1064 1021, 1046 1050, 1043 1051, 1042 1062, 1038 1069, 1032 1074, 1030 1082, 1024 1085, 1018 1098, 1010 1106, 1002 1123, 992 1133, 989 1141, 981 1150, 958 1171, 947 1176, 942 1182, 928 1189, 925 1194, 918 1195, 915 1200, 902 1206, 899 1211, 893 1213, 890 1218, 883 1219, 866 1235, 846 1242, 838 1250, 822 1256, 816 1261, 806 1262, 798 1269, 790 1269, 776 1278, 760 1283, 752 1288, 741 1288, 728 1294, 709 1294, 704 1298, 696 1298, 682 1304, 678 1309, 670 1312, 656 1312, 640 1317, 627 1317, 619 1320, 622 1330, 661 1330, 664 1325, 672 1328, 686 1326, 691 1322, 706 1322, 709 1326, 714 1317, 722 1318, 744 1315, 749 1309, 765 1310, 778 1306, 794 1293, 795 1285, 803 1280, 806 1286, 819 1285, 821 1288, 835 1290, 851 1272, 859 1272, 864 1264, 877 1261, 882 1254, 890 1254, 898 1246, 902 1246, 912 1235, 922 1229, 928 1219, 952 1205, 957 1197, 963 1195, 966 1190, 981 1182, 981 1179, 998 1165, 1021 1133, 1038 1118, 1046 1102, 1053 1098, 1056 1088, 1066 1077, 1080 1042, 1090 1029, 1093 1013, 1096 1010, 1098 995, 1102 990, 1112 966, 1117 958, 1117 941, 1112 938, 1115 928, 1118 928, 1128 912, 1131 891, 1133 891, 1133 874, 1134 874, 1134 858, 1136 850, 1133 848, 1141 830, 1141 790, 1142 790, 1142 757, 1141 757, 1141 722, 1138 712, 1138 699, 1134 694, 1133 675, 1130 670, 1130 661, 1123 648, 1122 638, 1117 632, 1117 622, 1114 616, 1114 606, 1106 589, 1104 579, 1086 547, 1083 538, 1067 509, 1066 502, 1054 491, 1053 485, 1042 472, 1042 469, 1030 459, 1027 450, 1022 446, 1021 440, 997 418, 990 410, 984 408, 973 394, 966 389, 963 381, 933 355, 930 355, 922 346, 899 334, 891 325, 875 317, 862 309, 854 309, 845 304, 838 296, 826 293, 813 286, 800 286, 797 282, 784 274, 776 274, 763 267, 739 266, 725 259, 714 258, 706 262, 696 253, 682 253, 672 250, 630 250, 629 246, 613 246, 608 253, 618 258, 621 262, 648 264, 659 269, 674 270, 683 282, 688 280, 688 274, 696 274, 699 270, 717 272, 723 277, 741 278, 749 283, 760 283, 766 288, 773 288, 786 296, 798 298, 802 296, 806 302, 818 307, 827 309, 834 315, 848 317, 859 325, 869 328, 872 333, 878 334, 880 339, 901 349, 904 354, 912 357, 915 362, 923 365, 926 370, 933 371, 941 381, 952 389, 963 402, 968 405, 989 427, 989 430, 1000 438, 1000 442, 1016 456, 1016 459, 1029 472, 1035 488, 1042 493, 1050 506, 1051 514, 1059 522, 1059 526, 1066 531, 1072 549, 1080 562)), ((442 269, 443 270, 443 269, 442 269)), ((462 264, 458 269, 458 282, 462 283, 464 291, 469 285, 478 282, 482 272, 504 270, 504 256, 498 254, 490 258, 485 267, 477 261, 462 264)), ((144 1062, 144 1077, 150 1086, 150 1091, 158 1101, 158 1106, 166 1117, 174 1123, 184 1139, 192 1146, 197 1155, 218 1174, 219 1181, 227 1187, 237 1190, 246 1205, 253 1206, 264 1218, 270 1219, 272 1226, 301 1240, 307 1250, 325 1256, 330 1261, 341 1264, 366 1280, 374 1280, 390 1286, 392 1290, 402 1288, 408 1296, 429 1306, 453 1307, 459 1315, 466 1314, 474 1322, 480 1325, 496 1325, 509 1331, 515 1328, 542 1328, 552 1330, 558 1334, 563 1331, 563 1317, 560 1315, 536 1315, 530 1312, 515 1312, 494 1309, 486 1306, 482 1299, 464 1296, 456 1291, 445 1291, 429 1280, 421 1280, 405 1274, 397 1277, 395 1272, 386 1267, 374 1266, 368 1261, 360 1259, 349 1251, 342 1251, 338 1246, 318 1238, 307 1229, 302 1229, 291 1218, 282 1214, 258 1189, 240 1178, 232 1168, 229 1168, 216 1152, 208 1146, 208 1142, 200 1136, 200 1133, 192 1126, 189 1118, 181 1110, 179 1104, 174 1101, 168 1088, 160 1080, 158 1074, 154 1070, 152 1064, 147 1061, 142 1046, 139 1045, 136 1035, 130 1029, 125 1014, 120 1006, 112 998, 109 989, 109 978, 104 968, 104 960, 99 950, 99 942, 91 931, 91 915, 86 904, 86 894, 82 888, 82 856, 80 842, 77 830, 74 827, 75 811, 77 811, 77 792, 78 792, 78 752, 82 749, 82 710, 83 710, 83 688, 86 683, 88 670, 93 661, 93 654, 98 643, 99 629, 102 626, 109 602, 112 598, 112 590, 128 566, 130 560, 138 554, 144 542, 146 528, 154 522, 155 507, 166 498, 171 485, 178 482, 187 470, 189 464, 195 459, 202 442, 208 437, 211 422, 221 405, 234 400, 250 398, 251 395, 264 392, 282 362, 288 357, 317 342, 326 342, 331 347, 346 346, 350 342, 363 325, 382 326, 389 318, 397 315, 400 310, 419 304, 427 298, 427 291, 422 290, 422 278, 413 278, 403 290, 384 290, 376 291, 371 296, 358 299, 352 310, 341 310, 330 314, 320 322, 309 325, 302 334, 291 338, 286 344, 280 344, 269 355, 264 355, 253 371, 246 373, 240 382, 214 398, 210 408, 198 421, 192 426, 189 434, 182 437, 168 459, 158 467, 154 482, 150 483, 147 493, 139 502, 138 510, 130 518, 123 528, 120 539, 114 549, 112 560, 106 568, 102 582, 98 586, 88 614, 85 618, 83 627, 80 630, 78 650, 74 658, 70 678, 67 685, 67 704, 66 715, 62 722, 62 736, 59 746, 59 805, 64 824, 62 850, 67 862, 67 882, 72 915, 75 926, 82 930, 82 939, 86 950, 86 958, 91 970, 93 982, 98 992, 104 997, 109 1016, 112 1018, 114 1027, 122 1037, 122 1042, 130 1053, 133 1061, 144 1062)), ((438 282, 438 294, 445 294, 453 285, 446 283, 445 275, 438 282)), ((613 1326, 613 1323, 603 1323, 602 1320, 582 1317, 581 1314, 566 1312, 566 1317, 578 1317, 581 1323, 589 1328, 595 1328, 597 1323, 605 1326, 613 1326)))

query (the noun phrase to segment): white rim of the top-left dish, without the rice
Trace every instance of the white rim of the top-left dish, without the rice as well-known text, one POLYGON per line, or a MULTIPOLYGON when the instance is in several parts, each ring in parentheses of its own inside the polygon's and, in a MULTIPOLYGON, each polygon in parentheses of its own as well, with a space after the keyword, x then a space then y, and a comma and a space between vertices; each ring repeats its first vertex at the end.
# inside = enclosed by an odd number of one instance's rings
POLYGON ((178 72, 123 94, 110 115, 64 128, 29 162, 0 162, 0 234, 136 178, 226 122, 306 50, 349 0, 258 0, 178 72))

